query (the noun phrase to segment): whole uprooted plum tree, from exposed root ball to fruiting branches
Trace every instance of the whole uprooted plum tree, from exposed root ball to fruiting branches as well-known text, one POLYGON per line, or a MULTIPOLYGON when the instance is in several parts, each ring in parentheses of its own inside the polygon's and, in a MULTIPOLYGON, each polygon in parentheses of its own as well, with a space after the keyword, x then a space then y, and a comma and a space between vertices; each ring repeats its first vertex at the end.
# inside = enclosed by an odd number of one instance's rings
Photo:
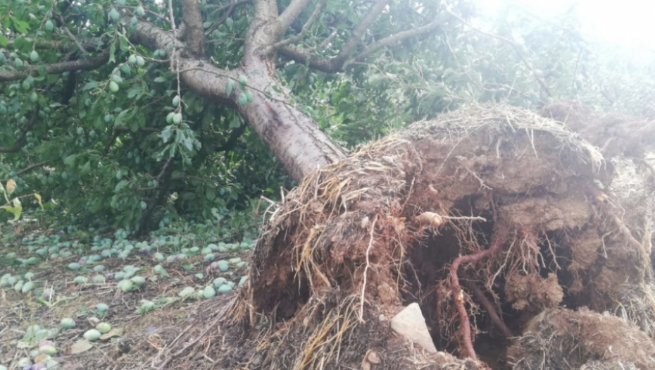
MULTIPOLYGON (((329 1, 308 8, 310 1, 292 0, 281 12, 270 0, 233 1, 216 9, 203 4, 204 11, 193 0, 177 8, 173 1, 165 5, 146 10, 119 1, 110 10, 73 2, 49 9, 11 4, 11 11, 3 12, 11 30, 0 42, 18 51, 2 54, 12 66, 0 70, 0 81, 21 82, 8 87, 13 100, 4 108, 15 119, 15 142, 0 152, 31 149, 35 140, 62 131, 68 139, 56 142, 58 149, 101 135, 108 140, 101 150, 62 156, 73 180, 116 178, 116 191, 151 190, 150 203, 111 197, 112 206, 142 207, 149 214, 170 191, 161 184, 170 184, 176 166, 191 161, 176 154, 208 144, 189 128, 194 112, 206 109, 196 100, 203 97, 237 111, 301 183, 269 209, 270 223, 254 253, 243 299, 221 309, 216 325, 187 334, 180 341, 185 346, 171 350, 169 360, 192 356, 206 349, 208 338, 221 338, 211 340, 211 354, 222 353, 218 361, 228 367, 506 366, 499 361, 520 369, 652 366, 654 214, 652 167, 644 159, 654 138, 651 125, 595 117, 574 104, 547 106, 542 111, 547 118, 506 106, 473 107, 415 123, 346 157, 294 104, 277 66, 294 62, 337 73, 398 42, 441 30, 447 20, 463 20, 421 6, 421 11, 396 13, 396 4, 385 0, 354 10, 334 8, 329 1), (206 35, 218 31, 220 37, 235 22, 235 9, 246 6, 237 20, 246 25, 240 46, 218 44, 237 57, 221 61, 220 68, 206 54, 206 35), (94 28, 106 22, 105 10, 111 32, 94 28), (331 18, 317 23, 324 10, 331 18), (32 16, 17 18, 26 11, 32 16), (215 23, 205 21, 217 14, 215 23), (29 27, 38 30, 35 36, 47 35, 53 23, 61 30, 56 36, 67 42, 20 36, 29 27), (325 29, 316 30, 316 24, 325 29), (407 27, 389 32, 399 25, 407 27), (308 32, 325 38, 304 44, 308 32), (74 52, 56 61, 63 53, 42 59, 39 48, 74 52), (144 68, 142 56, 127 54, 144 50, 154 56, 149 61, 168 68, 154 82, 173 77, 169 111, 139 105, 145 102, 140 99, 153 104, 161 99, 142 80, 130 82, 129 92, 117 98, 137 104, 113 106, 125 76, 144 68), (125 61, 118 62, 117 55, 125 61), (110 79, 87 80, 79 89, 77 73, 96 70, 110 79), (68 73, 66 83, 61 73, 68 73), (38 93, 17 93, 35 85, 38 93), (61 103, 49 100, 50 89, 62 90, 61 103), (182 89, 196 96, 187 98, 182 89), (63 119, 71 113, 70 121, 63 119), (89 113, 93 123, 83 125, 89 113), (70 127, 42 129, 35 139, 30 132, 52 115, 70 127), (166 120, 164 127, 149 125, 166 120), (158 159, 158 173, 139 184, 130 180, 135 170, 129 166, 92 171, 107 161, 108 151, 128 142, 130 159, 137 149, 161 145, 157 155, 150 153, 150 159, 158 159), (430 352, 429 345, 428 353, 421 352, 389 330, 389 320, 411 302, 421 307, 435 347, 461 359, 430 352)), ((532 69, 525 57, 520 63, 532 69)), ((533 75, 544 96, 551 95, 539 73, 533 75)), ((513 92, 513 83, 507 87, 513 92)), ((239 130, 233 133, 237 140, 239 130)), ((234 144, 232 136, 222 140, 221 147, 234 144)), ((42 147, 39 153, 48 156, 52 149, 42 147)), ((136 158, 135 168, 146 161, 136 158)), ((51 160, 42 159, 25 170, 51 160)), ((68 180, 68 172, 61 178, 68 180)), ((146 217, 126 218, 135 219, 146 217)))

